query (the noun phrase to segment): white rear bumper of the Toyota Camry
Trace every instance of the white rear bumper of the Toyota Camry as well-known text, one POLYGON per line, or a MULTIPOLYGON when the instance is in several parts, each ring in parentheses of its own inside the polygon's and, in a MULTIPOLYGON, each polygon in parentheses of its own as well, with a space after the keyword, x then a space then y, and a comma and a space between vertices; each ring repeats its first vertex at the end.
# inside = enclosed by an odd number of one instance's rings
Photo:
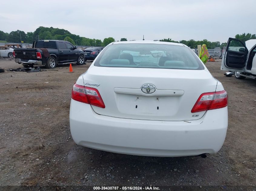
POLYGON ((227 107, 185 122, 121 119, 98 115, 89 104, 75 100, 70 105, 70 130, 76 144, 122 154, 178 157, 216 153, 227 127, 227 107))

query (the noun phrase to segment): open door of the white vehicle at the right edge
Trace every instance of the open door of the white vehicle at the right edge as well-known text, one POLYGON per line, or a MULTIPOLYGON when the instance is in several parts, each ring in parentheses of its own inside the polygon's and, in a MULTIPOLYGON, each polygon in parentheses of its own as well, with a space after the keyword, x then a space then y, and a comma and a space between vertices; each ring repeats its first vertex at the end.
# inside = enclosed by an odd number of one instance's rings
POLYGON ((244 72, 248 49, 241 40, 229 38, 222 56, 221 70, 244 72))

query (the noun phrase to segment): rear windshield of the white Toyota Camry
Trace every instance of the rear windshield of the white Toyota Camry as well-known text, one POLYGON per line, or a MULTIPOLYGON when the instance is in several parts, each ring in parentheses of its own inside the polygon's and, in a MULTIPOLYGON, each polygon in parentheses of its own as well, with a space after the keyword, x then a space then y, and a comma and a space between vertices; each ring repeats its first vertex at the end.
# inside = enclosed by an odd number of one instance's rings
POLYGON ((168 44, 112 44, 95 61, 100 67, 170 68, 203 70, 204 66, 186 46, 168 44))

